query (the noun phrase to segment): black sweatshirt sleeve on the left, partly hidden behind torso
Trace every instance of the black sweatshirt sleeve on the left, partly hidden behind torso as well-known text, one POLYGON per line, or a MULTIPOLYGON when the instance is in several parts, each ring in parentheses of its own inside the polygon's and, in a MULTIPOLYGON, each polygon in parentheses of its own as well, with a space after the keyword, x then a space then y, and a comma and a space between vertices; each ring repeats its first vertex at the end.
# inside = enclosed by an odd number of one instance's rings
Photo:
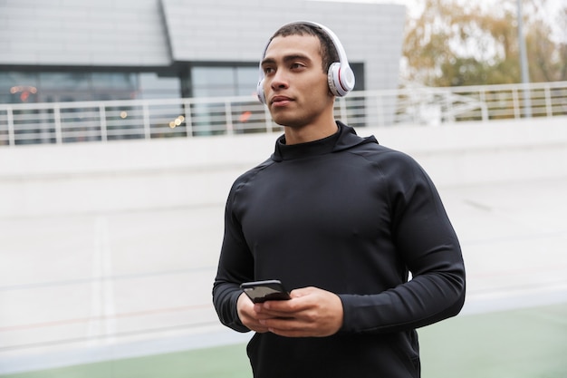
POLYGON ((213 304, 223 325, 238 332, 248 332, 250 330, 238 317, 236 302, 242 294, 240 283, 253 280, 254 259, 233 213, 237 188, 238 181, 233 185, 226 201, 225 234, 213 285, 213 304))

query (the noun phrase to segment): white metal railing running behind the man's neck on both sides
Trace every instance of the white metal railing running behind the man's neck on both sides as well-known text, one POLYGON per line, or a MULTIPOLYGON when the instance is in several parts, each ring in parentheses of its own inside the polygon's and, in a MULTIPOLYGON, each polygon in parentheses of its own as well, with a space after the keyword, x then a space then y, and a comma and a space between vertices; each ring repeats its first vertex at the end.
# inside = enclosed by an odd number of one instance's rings
MULTIPOLYGON (((567 115, 567 82, 351 92, 335 112, 356 127, 553 117, 567 115)), ((281 130, 252 96, 0 104, 0 146, 281 130)))

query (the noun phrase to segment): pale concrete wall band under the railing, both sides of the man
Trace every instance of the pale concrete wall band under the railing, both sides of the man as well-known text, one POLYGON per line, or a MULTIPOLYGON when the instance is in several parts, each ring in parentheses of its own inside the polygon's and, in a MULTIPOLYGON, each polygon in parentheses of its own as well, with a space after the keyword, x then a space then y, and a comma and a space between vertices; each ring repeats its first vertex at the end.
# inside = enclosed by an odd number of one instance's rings
MULTIPOLYGON (((567 176, 567 118, 360 129, 438 187, 567 176)), ((0 217, 224 203, 276 134, 0 148, 0 217)))

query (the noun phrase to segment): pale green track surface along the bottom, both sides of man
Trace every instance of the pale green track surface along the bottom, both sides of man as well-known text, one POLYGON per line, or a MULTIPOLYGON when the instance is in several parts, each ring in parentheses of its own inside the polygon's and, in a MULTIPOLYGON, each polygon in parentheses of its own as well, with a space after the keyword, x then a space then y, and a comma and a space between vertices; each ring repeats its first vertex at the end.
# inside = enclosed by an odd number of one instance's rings
MULTIPOLYGON (((419 338, 423 378, 567 377, 567 303, 482 315, 461 315, 419 330, 419 338)), ((0 377, 251 376, 245 345, 236 344, 0 377)))

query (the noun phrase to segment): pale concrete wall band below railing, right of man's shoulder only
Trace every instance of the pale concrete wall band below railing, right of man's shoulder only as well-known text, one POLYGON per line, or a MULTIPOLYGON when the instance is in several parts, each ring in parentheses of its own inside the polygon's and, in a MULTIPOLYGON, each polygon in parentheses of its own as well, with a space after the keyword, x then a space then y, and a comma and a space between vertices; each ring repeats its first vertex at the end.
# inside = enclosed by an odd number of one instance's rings
POLYGON ((381 144, 403 150, 437 187, 567 177, 567 117, 380 129, 381 144))

